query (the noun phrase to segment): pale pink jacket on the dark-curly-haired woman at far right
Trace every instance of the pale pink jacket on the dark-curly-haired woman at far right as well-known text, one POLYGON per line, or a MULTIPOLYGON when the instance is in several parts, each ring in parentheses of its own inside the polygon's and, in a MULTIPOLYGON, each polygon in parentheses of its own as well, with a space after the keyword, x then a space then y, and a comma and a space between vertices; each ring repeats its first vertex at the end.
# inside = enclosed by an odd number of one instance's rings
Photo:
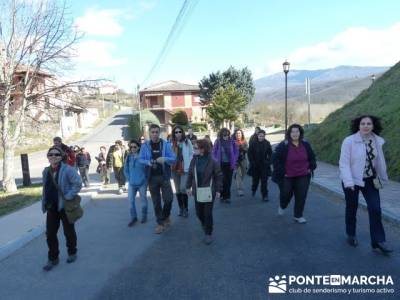
MULTIPOLYGON (((374 158, 372 164, 379 178, 387 181, 386 162, 382 150, 385 140, 373 133, 372 136, 377 152, 377 157, 374 158)), ((361 134, 357 132, 346 137, 342 143, 339 160, 340 179, 345 187, 364 186, 363 175, 366 159, 366 148, 361 134)))

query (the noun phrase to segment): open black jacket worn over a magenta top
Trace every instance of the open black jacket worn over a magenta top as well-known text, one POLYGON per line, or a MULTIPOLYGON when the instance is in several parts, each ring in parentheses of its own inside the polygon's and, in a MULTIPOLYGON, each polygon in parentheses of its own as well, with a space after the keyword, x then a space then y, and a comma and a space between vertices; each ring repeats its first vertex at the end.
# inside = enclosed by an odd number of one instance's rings
MULTIPOLYGON (((307 151, 308 163, 310 164, 311 175, 313 175, 313 171, 317 168, 317 161, 315 158, 314 151, 311 148, 311 145, 302 140, 304 147, 307 151)), ((286 159, 289 151, 289 141, 284 140, 276 146, 274 153, 272 154, 272 165, 274 170, 272 172, 272 181, 276 183, 280 183, 282 179, 285 177, 285 165, 286 159)))

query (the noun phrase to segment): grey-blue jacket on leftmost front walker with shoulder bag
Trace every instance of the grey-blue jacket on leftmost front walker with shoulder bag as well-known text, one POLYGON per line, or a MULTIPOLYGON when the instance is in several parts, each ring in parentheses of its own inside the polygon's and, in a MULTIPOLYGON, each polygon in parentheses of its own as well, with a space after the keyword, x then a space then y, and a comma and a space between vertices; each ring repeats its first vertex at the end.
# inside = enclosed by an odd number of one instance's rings
MULTIPOLYGON (((49 169, 50 167, 46 167, 43 170, 42 211, 44 213, 46 212, 46 203, 48 201, 48 199, 46 199, 46 178, 49 169)), ((58 211, 61 211, 64 208, 64 200, 61 193, 63 193, 67 201, 73 200, 82 188, 82 180, 75 168, 63 162, 61 163, 58 172, 57 185, 60 189, 58 191, 58 211)))

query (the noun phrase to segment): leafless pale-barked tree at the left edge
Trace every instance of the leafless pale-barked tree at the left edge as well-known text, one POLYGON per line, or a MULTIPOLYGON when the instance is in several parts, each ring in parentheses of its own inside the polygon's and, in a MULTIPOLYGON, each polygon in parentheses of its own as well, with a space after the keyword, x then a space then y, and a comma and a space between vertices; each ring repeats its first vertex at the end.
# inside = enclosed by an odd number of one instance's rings
POLYGON ((0 0, 0 11, 3 189, 16 191, 14 153, 29 111, 49 98, 64 101, 61 96, 68 88, 83 83, 55 80, 72 67, 74 46, 80 36, 65 2, 0 0), (47 81, 51 84, 43 83, 43 77, 50 78, 47 81))

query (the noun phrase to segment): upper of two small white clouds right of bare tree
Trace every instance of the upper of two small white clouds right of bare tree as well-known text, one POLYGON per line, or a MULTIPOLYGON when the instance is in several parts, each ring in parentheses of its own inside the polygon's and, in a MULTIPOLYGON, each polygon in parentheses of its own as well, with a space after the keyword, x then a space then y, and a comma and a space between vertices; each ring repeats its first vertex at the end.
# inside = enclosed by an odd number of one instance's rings
POLYGON ((119 9, 89 9, 75 24, 80 31, 96 36, 119 36, 123 32, 121 20, 129 16, 119 9))

